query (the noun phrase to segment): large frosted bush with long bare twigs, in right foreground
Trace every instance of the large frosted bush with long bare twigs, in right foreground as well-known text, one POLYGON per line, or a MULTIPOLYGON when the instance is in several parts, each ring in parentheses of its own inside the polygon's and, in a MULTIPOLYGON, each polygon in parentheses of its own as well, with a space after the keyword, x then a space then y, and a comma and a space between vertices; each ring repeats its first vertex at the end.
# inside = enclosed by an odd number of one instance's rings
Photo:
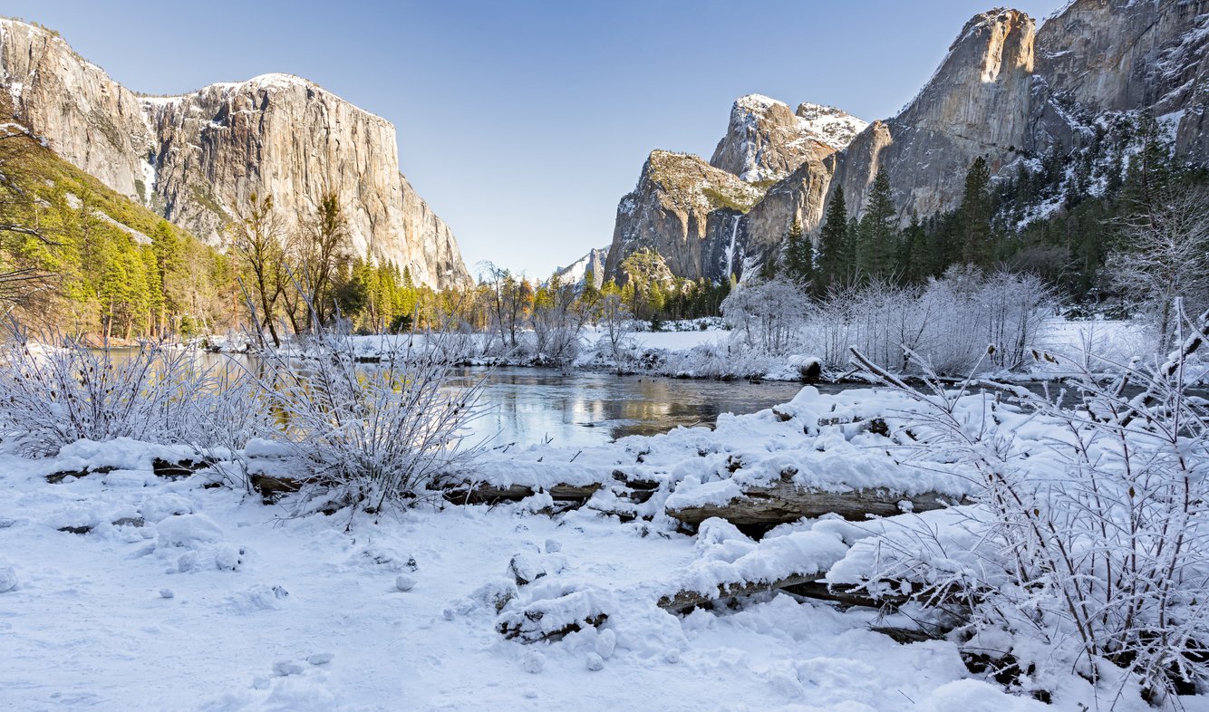
POLYGON ((971 394, 933 380, 919 389, 856 353, 924 406, 908 417, 913 445, 903 447, 944 452, 980 485, 960 525, 970 546, 947 545, 921 519, 862 544, 878 549, 864 585, 913 583, 919 601, 964 618, 970 635, 1040 637, 1057 662, 1093 679, 1101 661, 1115 662, 1126 671, 1118 684, 1132 678, 1155 701, 1203 689, 1209 409, 1182 371, 1207 342, 1209 312, 1165 363, 1120 366, 1111 387, 1086 374, 1074 406, 1006 386, 971 394), (1141 393, 1126 396, 1129 384, 1141 393))

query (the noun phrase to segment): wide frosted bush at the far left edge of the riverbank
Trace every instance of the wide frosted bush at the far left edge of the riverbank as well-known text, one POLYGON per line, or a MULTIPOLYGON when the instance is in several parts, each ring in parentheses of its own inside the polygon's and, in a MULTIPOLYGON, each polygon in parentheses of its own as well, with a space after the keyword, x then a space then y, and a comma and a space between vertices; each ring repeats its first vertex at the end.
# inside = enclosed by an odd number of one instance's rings
POLYGON ((0 429, 31 456, 76 440, 183 442, 193 401, 210 392, 195 354, 144 343, 91 348, 50 334, 34 342, 15 322, 0 353, 0 429))

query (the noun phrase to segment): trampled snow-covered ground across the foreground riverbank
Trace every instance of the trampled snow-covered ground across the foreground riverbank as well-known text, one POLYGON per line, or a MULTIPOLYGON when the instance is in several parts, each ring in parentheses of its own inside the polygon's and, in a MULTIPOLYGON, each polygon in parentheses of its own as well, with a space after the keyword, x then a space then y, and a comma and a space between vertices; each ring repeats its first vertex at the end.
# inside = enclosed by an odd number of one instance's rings
MULTIPOLYGON (((688 536, 663 514, 672 497, 721 500, 736 486, 785 477, 787 464, 792 480, 825 490, 967 488, 941 459, 904 469, 860 423, 895 407, 909 404, 885 392, 806 388, 779 409, 722 417, 716 432, 677 429, 577 453, 494 451, 478 473, 549 485, 613 482, 620 468, 658 481, 644 510, 630 513, 650 519, 626 523, 602 511, 619 504, 608 487, 554 515, 538 493, 375 522, 293 517, 284 504, 208 487, 206 470, 169 481, 152 459, 186 453, 160 446, 81 441, 54 458, 2 455, 0 583, 11 569, 15 585, 0 592, 0 708, 1046 710, 974 679, 955 642, 899 644, 869 630, 910 625, 901 615, 783 592, 687 615, 656 606, 729 580, 822 577, 868 534, 823 517, 758 543, 722 520, 688 536), (825 417, 832 424, 818 426, 825 417), (94 471, 47 480, 86 468, 94 471), (910 479, 925 471, 931 480, 910 479), (521 585, 522 574, 532 583, 521 585), (546 618, 527 615, 534 609, 546 618), (607 614, 598 627, 554 642, 525 644, 497 630, 597 613, 607 614)), ((1046 672, 1059 681, 1053 708, 1091 705, 1081 678, 1046 672)), ((1127 697, 1117 708, 1146 706, 1127 697)))

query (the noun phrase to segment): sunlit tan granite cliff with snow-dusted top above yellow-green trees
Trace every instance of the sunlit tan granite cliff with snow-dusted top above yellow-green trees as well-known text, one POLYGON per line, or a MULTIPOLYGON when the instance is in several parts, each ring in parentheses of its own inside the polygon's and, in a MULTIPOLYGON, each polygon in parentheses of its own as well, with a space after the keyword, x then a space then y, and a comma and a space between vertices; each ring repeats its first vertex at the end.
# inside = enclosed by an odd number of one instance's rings
POLYGON ((449 226, 399 173, 394 127, 312 82, 272 74, 138 97, 53 33, 8 19, 0 62, 15 116, 51 149, 212 243, 253 193, 293 220, 336 192, 355 254, 423 284, 470 282, 449 226))

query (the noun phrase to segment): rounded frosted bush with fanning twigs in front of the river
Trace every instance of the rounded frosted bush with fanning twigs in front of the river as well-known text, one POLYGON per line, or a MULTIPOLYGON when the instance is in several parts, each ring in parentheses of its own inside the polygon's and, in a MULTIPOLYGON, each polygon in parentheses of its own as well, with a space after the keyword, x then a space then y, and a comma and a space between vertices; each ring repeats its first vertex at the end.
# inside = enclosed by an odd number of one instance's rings
POLYGON ((340 505, 380 510, 421 497, 446 473, 467 469, 479 447, 464 442, 480 415, 482 381, 450 386, 446 332, 383 347, 381 363, 358 363, 349 335, 317 329, 306 359, 270 349, 255 376, 280 413, 294 464, 313 492, 340 505))

